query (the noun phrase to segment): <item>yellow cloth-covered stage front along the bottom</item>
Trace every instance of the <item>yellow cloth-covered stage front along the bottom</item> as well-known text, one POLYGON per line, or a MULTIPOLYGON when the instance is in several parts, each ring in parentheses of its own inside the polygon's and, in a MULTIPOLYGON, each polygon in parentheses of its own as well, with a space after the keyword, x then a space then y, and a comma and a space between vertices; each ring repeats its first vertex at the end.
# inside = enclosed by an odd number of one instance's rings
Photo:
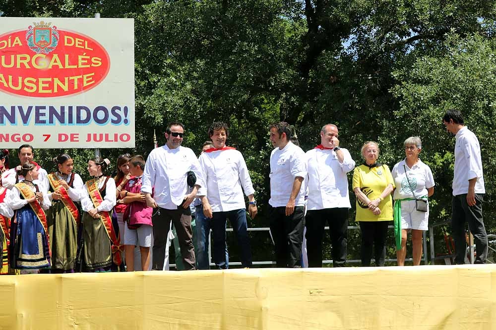
POLYGON ((496 329, 496 266, 0 277, 0 329, 496 329))

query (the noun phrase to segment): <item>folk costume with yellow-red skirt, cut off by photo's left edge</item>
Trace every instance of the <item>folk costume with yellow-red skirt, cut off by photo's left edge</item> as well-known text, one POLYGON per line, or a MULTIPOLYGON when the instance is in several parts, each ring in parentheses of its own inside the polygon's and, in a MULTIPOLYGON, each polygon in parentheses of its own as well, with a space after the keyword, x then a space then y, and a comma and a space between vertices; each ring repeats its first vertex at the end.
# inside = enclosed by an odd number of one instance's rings
POLYGON ((0 275, 9 274, 8 271, 8 244, 10 243, 10 218, 14 211, 8 206, 12 192, 0 186, 0 275))

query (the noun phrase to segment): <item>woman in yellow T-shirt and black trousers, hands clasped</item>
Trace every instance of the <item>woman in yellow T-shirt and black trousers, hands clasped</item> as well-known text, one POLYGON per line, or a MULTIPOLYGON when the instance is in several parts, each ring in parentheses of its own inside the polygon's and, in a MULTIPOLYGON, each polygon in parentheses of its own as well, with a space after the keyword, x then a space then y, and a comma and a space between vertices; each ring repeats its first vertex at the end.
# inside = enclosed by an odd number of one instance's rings
POLYGON ((365 142, 362 146, 365 162, 355 167, 353 172, 353 191, 357 196, 356 221, 360 223, 362 232, 362 266, 371 265, 372 252, 375 265, 384 266, 387 226, 393 220, 393 177, 387 165, 377 162, 379 152, 377 142, 365 142))

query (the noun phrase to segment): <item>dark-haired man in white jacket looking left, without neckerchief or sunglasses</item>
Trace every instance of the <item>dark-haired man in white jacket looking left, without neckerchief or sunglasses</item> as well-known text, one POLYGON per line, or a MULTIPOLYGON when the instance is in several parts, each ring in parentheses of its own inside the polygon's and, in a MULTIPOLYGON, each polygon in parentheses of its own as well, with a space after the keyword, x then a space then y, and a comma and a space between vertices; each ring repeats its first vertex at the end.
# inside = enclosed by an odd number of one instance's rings
POLYGON ((305 227, 305 152, 289 141, 291 127, 279 122, 270 126, 270 232, 274 239, 277 267, 301 267, 305 227))

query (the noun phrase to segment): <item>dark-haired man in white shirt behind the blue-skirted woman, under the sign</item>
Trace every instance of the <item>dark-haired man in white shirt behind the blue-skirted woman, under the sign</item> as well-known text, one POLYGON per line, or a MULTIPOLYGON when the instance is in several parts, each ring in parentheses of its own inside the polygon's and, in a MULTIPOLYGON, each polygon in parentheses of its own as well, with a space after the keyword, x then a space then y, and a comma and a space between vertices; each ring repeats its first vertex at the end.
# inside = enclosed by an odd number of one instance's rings
MULTIPOLYGON (((49 190, 49 182, 48 182, 48 173, 40 165, 33 161, 34 157, 34 149, 30 144, 23 144, 17 149, 17 156, 22 164, 28 162, 31 164, 35 164, 36 169, 39 172, 38 179, 33 183, 40 187, 40 190, 48 191, 49 190)), ((22 175, 17 175, 17 168, 11 168, 5 172, 3 172, 1 176, 1 185, 4 188, 12 189, 16 183, 24 181, 24 177, 22 175)))

